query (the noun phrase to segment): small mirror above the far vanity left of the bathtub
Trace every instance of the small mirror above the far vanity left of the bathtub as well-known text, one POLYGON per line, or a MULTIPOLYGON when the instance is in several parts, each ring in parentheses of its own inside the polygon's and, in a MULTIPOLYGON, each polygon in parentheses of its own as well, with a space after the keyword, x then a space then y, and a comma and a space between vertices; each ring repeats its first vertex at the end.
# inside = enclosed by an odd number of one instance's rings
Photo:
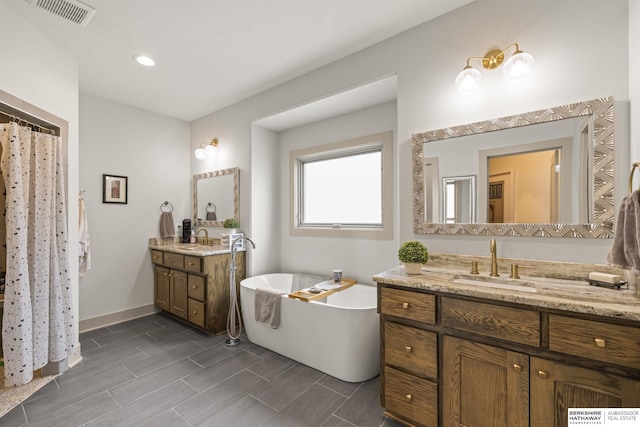
POLYGON ((193 221, 196 226, 222 227, 227 218, 240 220, 240 170, 223 169, 193 175, 193 221))

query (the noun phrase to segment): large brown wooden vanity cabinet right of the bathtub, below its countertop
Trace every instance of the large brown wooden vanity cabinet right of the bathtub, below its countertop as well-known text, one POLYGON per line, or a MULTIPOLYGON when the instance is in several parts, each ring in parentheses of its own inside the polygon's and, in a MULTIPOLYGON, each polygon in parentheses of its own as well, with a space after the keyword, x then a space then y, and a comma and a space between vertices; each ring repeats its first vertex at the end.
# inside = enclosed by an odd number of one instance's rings
POLYGON ((383 283, 378 290, 380 402, 398 421, 564 427, 569 408, 640 407, 637 322, 383 283))

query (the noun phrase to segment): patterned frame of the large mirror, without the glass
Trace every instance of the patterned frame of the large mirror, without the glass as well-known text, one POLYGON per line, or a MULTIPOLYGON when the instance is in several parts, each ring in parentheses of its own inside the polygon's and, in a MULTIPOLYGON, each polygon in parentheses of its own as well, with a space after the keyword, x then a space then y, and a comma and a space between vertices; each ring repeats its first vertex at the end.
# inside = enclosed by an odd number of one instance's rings
POLYGON ((413 231, 418 234, 613 238, 613 97, 598 98, 493 120, 416 133, 412 138, 413 231), (588 224, 443 224, 425 222, 423 144, 570 119, 593 117, 593 222, 588 224))

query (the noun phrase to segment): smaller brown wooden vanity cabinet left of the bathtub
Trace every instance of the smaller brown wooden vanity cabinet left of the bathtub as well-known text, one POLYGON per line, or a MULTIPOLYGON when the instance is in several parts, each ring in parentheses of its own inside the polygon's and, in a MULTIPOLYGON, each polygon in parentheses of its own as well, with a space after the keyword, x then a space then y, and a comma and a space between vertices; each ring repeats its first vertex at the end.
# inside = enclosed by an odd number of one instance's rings
MULTIPOLYGON (((231 255, 184 255, 151 250, 156 307, 211 333, 226 331, 231 255)), ((236 283, 245 278, 245 253, 236 254, 236 283)))

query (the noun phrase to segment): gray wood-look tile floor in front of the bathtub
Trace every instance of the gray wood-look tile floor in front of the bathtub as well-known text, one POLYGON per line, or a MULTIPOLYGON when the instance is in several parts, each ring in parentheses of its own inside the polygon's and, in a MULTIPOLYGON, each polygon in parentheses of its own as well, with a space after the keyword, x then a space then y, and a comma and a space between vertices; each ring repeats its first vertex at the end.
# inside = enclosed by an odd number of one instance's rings
POLYGON ((0 418, 11 426, 400 426, 378 378, 346 383, 162 315, 81 334, 83 360, 0 418))

